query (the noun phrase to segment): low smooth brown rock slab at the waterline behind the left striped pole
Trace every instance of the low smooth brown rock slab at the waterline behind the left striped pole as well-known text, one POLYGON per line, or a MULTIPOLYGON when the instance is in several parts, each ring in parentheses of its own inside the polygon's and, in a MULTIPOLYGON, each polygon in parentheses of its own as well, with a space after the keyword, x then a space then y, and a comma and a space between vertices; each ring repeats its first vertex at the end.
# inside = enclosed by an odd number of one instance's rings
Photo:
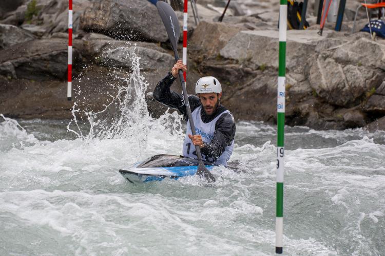
POLYGON ((116 95, 124 79, 108 68, 92 66, 83 70, 81 79, 72 81, 72 101, 67 100, 67 82, 57 80, 0 79, 0 113, 17 118, 72 118, 71 109, 101 111, 116 95))

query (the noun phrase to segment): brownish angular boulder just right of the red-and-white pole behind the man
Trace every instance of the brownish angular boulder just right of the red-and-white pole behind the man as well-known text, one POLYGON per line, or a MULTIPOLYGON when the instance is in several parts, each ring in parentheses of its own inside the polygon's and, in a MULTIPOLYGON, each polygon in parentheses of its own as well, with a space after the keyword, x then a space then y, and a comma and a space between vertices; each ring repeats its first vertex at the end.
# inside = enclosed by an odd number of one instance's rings
POLYGON ((242 27, 236 25, 202 21, 188 40, 189 51, 194 52, 197 57, 202 54, 203 58, 215 58, 228 40, 241 30, 242 27))

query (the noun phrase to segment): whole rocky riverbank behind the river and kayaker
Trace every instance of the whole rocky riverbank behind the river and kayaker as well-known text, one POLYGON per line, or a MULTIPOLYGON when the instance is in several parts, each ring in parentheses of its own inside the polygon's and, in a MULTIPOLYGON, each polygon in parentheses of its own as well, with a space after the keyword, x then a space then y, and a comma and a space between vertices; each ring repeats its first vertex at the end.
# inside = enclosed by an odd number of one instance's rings
MULTIPOLYGON (((279 2, 232 1, 222 23, 216 20, 224 1, 196 2, 200 23, 189 11, 187 84, 214 75, 223 86, 222 103, 238 120, 275 122, 279 2)), ((341 32, 329 22, 317 35, 310 2, 310 28, 287 32, 286 123, 385 130, 385 40, 351 34, 359 1, 348 2, 341 32)), ((179 1, 171 4, 181 10, 179 1)), ((67 8, 64 0, 0 4, 0 113, 72 116, 73 102, 66 100, 67 8)), ((73 10, 73 100, 82 109, 103 108, 131 72, 132 52, 141 57, 148 92, 172 66, 167 34, 150 2, 74 0, 73 10)), ((182 12, 177 14, 182 23, 182 12)), ((362 10, 356 28, 365 23, 362 10)), ((154 115, 164 112, 151 96, 147 102, 154 115)))

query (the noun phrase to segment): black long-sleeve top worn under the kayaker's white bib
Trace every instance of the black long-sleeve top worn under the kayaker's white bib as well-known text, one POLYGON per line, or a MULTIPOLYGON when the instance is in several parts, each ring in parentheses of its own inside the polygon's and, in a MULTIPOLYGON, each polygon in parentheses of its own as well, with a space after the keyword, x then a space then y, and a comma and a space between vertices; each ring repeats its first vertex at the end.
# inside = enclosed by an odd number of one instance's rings
MULTIPOLYGON (((186 105, 184 103, 184 97, 174 91, 170 91, 172 82, 175 78, 172 77, 171 72, 158 82, 155 90, 152 93, 152 97, 160 103, 169 106, 172 109, 178 110, 183 118, 188 121, 186 105)), ((200 99, 195 95, 188 95, 188 101, 190 104, 191 112, 198 108, 201 104, 200 99)), ((206 115, 204 109, 201 109, 201 119, 204 123, 208 123, 222 112, 226 111, 226 108, 219 104, 217 111, 213 115, 206 115)), ((201 152, 214 161, 222 155, 226 146, 233 143, 235 137, 235 121, 233 115, 230 113, 224 113, 221 115, 215 123, 214 138, 210 143, 204 142, 204 147, 201 148, 201 152)))

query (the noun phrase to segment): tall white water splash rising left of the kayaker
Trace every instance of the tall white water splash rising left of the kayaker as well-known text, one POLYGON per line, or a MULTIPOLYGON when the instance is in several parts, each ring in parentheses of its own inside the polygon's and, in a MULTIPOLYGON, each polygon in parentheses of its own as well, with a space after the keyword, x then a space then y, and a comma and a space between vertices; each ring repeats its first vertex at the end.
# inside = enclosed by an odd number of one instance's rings
MULTIPOLYGON (((124 52, 125 58, 131 62, 131 73, 111 73, 115 78, 123 81, 123 86, 118 88, 116 95, 111 96, 111 101, 100 112, 87 112, 79 109, 76 102, 72 106, 73 118, 67 125, 67 130, 76 137, 85 141, 123 139, 136 147, 137 152, 143 152, 147 148, 148 136, 159 136, 159 133, 168 133, 183 138, 181 116, 178 113, 170 113, 168 110, 160 118, 152 118, 147 110, 145 101, 148 83, 140 73, 140 56, 134 51, 124 52), (84 113, 89 123, 88 132, 82 130, 78 116, 84 113), (151 132, 152 131, 152 132, 151 132), (153 133, 153 131, 158 131, 153 133)), ((151 140, 151 139, 150 139, 151 140)))

